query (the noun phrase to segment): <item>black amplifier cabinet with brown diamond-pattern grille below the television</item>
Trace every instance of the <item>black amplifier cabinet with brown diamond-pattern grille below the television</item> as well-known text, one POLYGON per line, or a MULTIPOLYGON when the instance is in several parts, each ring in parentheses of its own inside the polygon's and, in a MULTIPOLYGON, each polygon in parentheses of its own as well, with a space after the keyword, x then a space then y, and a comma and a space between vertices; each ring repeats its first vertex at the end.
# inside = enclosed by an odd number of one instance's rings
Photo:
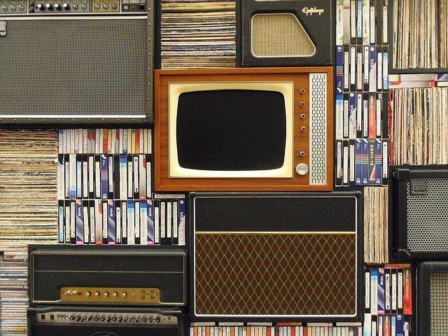
POLYGON ((192 194, 191 314, 352 321, 362 287, 358 197, 192 194))

